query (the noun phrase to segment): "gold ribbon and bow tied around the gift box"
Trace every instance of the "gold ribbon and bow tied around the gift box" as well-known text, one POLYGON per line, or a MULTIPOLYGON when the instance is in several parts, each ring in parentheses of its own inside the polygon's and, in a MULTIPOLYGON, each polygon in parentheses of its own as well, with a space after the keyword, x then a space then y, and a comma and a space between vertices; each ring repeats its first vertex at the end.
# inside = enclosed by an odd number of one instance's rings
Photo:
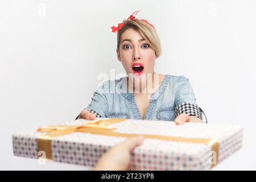
MULTIPOLYGON (((117 133, 113 131, 115 128, 111 125, 113 123, 122 122, 126 119, 111 118, 103 119, 99 121, 88 121, 81 125, 52 125, 40 127, 38 132, 47 132, 46 134, 38 138, 38 151, 46 152, 46 158, 52 160, 52 147, 51 142, 53 137, 66 135, 73 132, 90 133, 97 135, 108 135, 113 137, 137 137, 137 134, 117 133)), ((212 148, 215 153, 216 161, 212 163, 211 167, 218 163, 218 142, 215 139, 210 138, 184 138, 184 137, 170 137, 164 135, 148 135, 142 134, 144 138, 168 140, 174 142, 189 142, 189 143, 201 143, 207 144, 212 148)))

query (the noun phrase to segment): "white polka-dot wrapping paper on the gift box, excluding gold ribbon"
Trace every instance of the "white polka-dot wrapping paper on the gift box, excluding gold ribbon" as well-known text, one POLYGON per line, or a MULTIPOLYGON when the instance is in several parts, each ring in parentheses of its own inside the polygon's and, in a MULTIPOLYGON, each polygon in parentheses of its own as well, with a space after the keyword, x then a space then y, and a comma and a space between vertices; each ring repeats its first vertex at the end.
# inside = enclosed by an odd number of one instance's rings
MULTIPOLYGON (((104 118, 97 118, 100 120, 104 118)), ((108 119, 108 118, 105 118, 108 119)), ((85 119, 66 122, 65 125, 81 125, 85 119)), ((63 123, 61 123, 63 125, 63 123)), ((114 123, 118 133, 138 135, 164 135, 183 138, 212 138, 218 142, 218 163, 228 158, 242 146, 242 127, 185 123, 175 125, 168 121, 127 119, 114 123)), ((38 137, 45 133, 34 130, 13 135, 15 156, 39 158, 38 137)), ((81 132, 54 137, 51 142, 54 162, 93 167, 109 148, 127 139, 81 132)), ((133 170, 209 170, 212 162, 212 147, 202 143, 174 142, 160 139, 144 139, 135 148, 131 169, 133 170)))

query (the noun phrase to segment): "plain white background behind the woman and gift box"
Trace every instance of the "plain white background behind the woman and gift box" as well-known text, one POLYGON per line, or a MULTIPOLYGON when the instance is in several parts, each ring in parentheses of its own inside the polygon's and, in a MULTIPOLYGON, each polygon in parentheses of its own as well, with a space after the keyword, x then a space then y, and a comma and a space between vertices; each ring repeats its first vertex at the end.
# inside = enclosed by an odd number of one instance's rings
POLYGON ((142 9, 163 54, 155 71, 189 78, 210 123, 243 126, 243 146, 215 169, 256 169, 256 1, 0 2, 0 169, 86 169, 13 156, 11 135, 74 119, 100 73, 125 73, 109 27, 142 9))

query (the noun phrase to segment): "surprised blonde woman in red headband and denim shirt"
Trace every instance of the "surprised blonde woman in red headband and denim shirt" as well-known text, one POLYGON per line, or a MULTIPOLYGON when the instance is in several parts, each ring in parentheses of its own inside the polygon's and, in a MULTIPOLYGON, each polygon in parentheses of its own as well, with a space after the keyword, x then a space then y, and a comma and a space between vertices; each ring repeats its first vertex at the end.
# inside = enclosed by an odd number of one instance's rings
POLYGON ((203 110, 195 103, 188 78, 154 72, 155 60, 161 54, 160 41, 155 27, 147 20, 135 18, 137 13, 112 27, 112 32, 117 32, 117 59, 127 77, 104 82, 76 119, 203 122, 203 110))

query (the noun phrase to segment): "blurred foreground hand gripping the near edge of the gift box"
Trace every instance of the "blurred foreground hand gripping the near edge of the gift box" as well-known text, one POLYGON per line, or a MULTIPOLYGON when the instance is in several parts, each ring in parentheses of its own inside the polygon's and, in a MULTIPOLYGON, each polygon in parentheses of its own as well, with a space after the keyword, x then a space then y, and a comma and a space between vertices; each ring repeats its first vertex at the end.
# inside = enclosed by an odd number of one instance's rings
POLYGON ((131 152, 142 143, 143 139, 142 136, 132 137, 110 148, 110 150, 100 158, 93 170, 129 170, 131 152))

